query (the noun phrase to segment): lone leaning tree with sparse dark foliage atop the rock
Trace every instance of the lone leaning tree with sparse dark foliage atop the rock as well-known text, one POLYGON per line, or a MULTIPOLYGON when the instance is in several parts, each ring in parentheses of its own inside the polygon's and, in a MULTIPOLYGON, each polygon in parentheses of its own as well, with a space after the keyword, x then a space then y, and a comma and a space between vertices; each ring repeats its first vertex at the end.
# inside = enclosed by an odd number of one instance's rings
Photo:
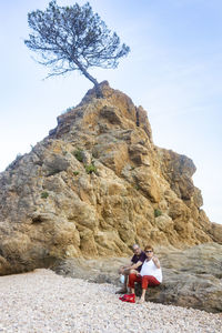
POLYGON ((82 7, 78 3, 59 7, 56 0, 50 1, 46 11, 28 13, 28 23, 32 31, 24 43, 40 56, 39 62, 50 69, 48 77, 79 70, 93 82, 98 94, 98 81, 88 69, 117 68, 119 59, 130 51, 92 11, 89 2, 82 7))

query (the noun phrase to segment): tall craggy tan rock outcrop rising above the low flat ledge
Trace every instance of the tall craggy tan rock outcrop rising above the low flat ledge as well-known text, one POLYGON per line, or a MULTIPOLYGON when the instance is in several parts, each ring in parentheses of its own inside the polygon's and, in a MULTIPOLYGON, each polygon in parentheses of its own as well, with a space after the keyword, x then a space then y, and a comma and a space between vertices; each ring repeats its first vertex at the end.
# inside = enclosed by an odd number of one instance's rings
POLYGON ((145 111, 101 83, 0 174, 0 273, 58 258, 127 255, 138 242, 222 243, 193 162, 152 142, 145 111))

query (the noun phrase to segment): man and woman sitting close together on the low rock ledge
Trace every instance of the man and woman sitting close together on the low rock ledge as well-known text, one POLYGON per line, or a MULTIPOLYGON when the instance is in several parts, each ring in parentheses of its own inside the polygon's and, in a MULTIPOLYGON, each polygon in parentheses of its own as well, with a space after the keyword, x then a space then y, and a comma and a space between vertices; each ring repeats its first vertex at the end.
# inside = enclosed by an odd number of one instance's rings
MULTIPOLYGON (((162 270, 152 246, 147 245, 144 251, 142 251, 138 244, 134 244, 132 249, 134 255, 131 259, 131 263, 119 270, 119 273, 124 275, 124 285, 117 293, 127 293, 127 286, 129 286, 131 294, 134 294, 134 283, 139 282, 142 285, 142 295, 139 303, 143 303, 148 286, 155 286, 162 282, 162 270)), ((121 297, 121 300, 124 301, 124 297, 121 297)))

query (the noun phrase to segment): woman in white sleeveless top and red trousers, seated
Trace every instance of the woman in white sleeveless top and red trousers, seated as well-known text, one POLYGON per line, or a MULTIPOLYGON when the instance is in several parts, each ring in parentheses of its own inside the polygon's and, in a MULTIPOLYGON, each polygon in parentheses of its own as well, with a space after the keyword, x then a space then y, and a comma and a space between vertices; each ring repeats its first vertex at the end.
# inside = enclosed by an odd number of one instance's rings
POLYGON ((153 248, 147 245, 144 249, 147 259, 142 265, 140 273, 131 273, 129 275, 129 286, 131 287, 131 293, 134 294, 134 283, 140 282, 142 284, 142 295, 139 303, 143 303, 145 300, 145 292, 148 285, 155 286, 162 282, 162 270, 160 266, 160 261, 153 254, 153 248))

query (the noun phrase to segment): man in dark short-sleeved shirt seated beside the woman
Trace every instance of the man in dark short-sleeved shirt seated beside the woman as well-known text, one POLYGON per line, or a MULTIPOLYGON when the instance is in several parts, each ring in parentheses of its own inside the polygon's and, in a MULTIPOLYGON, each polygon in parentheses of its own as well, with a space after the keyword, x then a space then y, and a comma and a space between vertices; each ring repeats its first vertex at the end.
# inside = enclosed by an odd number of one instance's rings
POLYGON ((124 275, 124 284, 123 287, 121 287, 119 291, 117 291, 117 294, 125 294, 128 292, 128 276, 131 273, 139 273, 143 262, 147 259, 145 253, 140 249, 138 244, 134 244, 132 246, 132 251, 134 255, 131 259, 131 263, 127 266, 121 266, 119 270, 119 273, 124 275))

